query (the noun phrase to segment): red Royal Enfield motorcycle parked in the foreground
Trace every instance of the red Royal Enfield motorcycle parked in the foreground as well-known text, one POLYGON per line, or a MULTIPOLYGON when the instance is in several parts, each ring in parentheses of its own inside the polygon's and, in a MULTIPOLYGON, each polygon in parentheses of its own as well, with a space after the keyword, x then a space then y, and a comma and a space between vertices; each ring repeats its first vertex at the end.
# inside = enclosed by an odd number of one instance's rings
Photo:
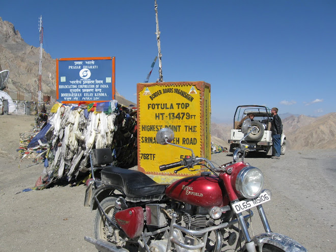
MULTIPOLYGON (((251 130, 248 120, 243 128, 247 135, 251 130)), ((188 149, 172 144, 173 139, 171 129, 157 132, 157 143, 188 149)), ((191 149, 191 156, 161 165, 160 171, 180 167, 175 173, 199 171, 197 166, 204 169, 201 175, 171 185, 111 165, 103 167, 101 179, 97 179, 94 172, 98 165, 111 163, 111 150, 93 150, 93 179, 88 182, 85 206, 98 211, 95 239, 86 236, 85 240, 99 251, 219 252, 234 244, 235 251, 307 251, 291 238, 271 231, 262 205, 271 199, 271 192, 263 189, 262 172, 243 161, 243 139, 233 161, 224 165, 195 157, 191 149), (240 156, 242 161, 238 161, 240 156), (248 232, 252 207, 257 207, 265 229, 254 237, 248 232)))

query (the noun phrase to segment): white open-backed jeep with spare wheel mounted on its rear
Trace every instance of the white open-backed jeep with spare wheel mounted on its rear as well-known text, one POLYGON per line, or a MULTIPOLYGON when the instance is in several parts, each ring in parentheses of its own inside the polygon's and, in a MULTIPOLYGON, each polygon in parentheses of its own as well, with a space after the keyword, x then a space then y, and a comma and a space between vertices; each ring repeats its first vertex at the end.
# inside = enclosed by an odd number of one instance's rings
MULTIPOLYGON (((251 132, 242 142, 246 144, 247 151, 264 151, 266 155, 272 155, 273 141, 271 131, 271 121, 273 115, 270 109, 260 105, 240 105, 236 108, 234 116, 233 129, 231 129, 229 144, 230 152, 234 152, 239 147, 239 141, 243 138, 244 133, 241 132, 241 125, 245 119, 249 118, 250 114, 254 114, 254 119, 251 121, 251 132)), ((281 135, 281 154, 286 152, 286 136, 281 135)))

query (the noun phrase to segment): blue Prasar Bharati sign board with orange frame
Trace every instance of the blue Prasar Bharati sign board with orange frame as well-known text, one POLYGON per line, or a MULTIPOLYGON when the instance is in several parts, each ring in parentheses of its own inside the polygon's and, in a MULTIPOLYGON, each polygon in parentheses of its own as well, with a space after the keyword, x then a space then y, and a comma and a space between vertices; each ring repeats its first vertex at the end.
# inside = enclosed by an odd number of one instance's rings
POLYGON ((115 58, 57 60, 57 101, 110 101, 115 99, 115 58))

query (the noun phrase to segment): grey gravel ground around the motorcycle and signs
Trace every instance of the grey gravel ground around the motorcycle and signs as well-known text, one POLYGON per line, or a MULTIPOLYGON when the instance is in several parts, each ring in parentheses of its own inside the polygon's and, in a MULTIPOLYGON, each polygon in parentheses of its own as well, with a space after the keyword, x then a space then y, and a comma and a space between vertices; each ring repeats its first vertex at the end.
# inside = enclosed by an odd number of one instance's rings
MULTIPOLYGON (((85 186, 22 192, 43 169, 29 159, 19 163, 15 151, 19 133, 33 123, 33 116, 0 116, 0 251, 96 251, 84 240, 93 237, 95 214, 83 206, 85 186)), ((223 164, 232 155, 213 154, 212 160, 223 164)), ((265 188, 272 191, 264 209, 273 232, 309 251, 336 250, 335 149, 288 150, 279 160, 254 155, 245 161, 263 171, 265 188)), ((252 227, 254 234, 263 232, 256 211, 252 227)))

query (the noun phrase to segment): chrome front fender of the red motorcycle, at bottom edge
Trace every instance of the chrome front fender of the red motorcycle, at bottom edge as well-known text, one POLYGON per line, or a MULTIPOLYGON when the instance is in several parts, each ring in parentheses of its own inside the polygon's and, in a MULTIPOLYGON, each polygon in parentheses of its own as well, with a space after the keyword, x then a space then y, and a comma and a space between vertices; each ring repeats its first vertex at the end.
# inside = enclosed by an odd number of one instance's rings
POLYGON ((258 243, 267 243, 286 252, 307 252, 307 250, 297 241, 277 233, 262 233, 255 236, 252 241, 258 245, 258 243))

